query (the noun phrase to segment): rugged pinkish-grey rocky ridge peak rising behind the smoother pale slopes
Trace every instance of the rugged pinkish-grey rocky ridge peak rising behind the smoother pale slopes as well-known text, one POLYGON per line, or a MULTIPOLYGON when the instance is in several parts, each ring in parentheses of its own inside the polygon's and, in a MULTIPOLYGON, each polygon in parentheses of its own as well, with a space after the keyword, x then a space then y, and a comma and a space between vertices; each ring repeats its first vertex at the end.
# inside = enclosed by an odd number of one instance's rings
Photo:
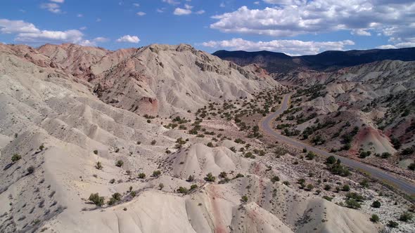
POLYGON ((192 112, 209 100, 250 98, 254 91, 279 86, 269 76, 257 79, 255 71, 186 44, 120 51, 45 45, 39 53, 89 81, 103 102, 153 115, 192 112))

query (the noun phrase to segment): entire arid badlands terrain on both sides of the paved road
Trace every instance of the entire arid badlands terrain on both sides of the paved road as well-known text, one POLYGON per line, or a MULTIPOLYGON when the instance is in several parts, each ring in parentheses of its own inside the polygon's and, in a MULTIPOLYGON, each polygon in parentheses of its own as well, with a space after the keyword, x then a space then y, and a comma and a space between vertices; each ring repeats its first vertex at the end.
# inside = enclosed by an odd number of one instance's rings
POLYGON ((415 63, 269 73, 186 44, 0 44, 0 232, 414 232, 415 63))

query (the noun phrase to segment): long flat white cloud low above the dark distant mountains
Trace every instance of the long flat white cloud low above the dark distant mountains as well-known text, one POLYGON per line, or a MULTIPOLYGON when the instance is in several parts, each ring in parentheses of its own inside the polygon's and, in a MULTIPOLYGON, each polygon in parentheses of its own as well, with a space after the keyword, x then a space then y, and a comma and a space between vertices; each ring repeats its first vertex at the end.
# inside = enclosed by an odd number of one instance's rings
POLYGON ((327 50, 344 50, 345 46, 352 46, 355 42, 345 41, 299 41, 299 40, 274 40, 274 41, 247 41, 235 38, 225 41, 208 41, 200 45, 209 48, 225 48, 243 51, 277 51, 290 55, 316 54, 327 50))

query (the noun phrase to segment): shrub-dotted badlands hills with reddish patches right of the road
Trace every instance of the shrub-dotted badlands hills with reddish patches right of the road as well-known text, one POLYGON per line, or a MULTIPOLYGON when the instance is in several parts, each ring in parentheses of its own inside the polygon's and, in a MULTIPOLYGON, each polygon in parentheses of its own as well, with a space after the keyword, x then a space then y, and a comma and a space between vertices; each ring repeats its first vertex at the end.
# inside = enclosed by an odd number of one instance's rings
POLYGON ((286 115, 291 120, 280 122, 280 128, 291 124, 287 132, 300 131, 302 140, 410 173, 407 166, 415 156, 415 62, 384 60, 337 72, 275 76, 299 88, 295 107, 286 115))

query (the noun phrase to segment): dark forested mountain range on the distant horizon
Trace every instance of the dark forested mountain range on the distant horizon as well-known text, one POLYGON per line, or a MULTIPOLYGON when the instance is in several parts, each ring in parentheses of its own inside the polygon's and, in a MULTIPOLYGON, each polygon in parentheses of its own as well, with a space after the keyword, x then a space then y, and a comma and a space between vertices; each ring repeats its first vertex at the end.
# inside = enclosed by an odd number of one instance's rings
POLYGON ((289 56, 270 51, 216 51, 213 55, 238 65, 257 64, 270 73, 287 73, 294 69, 332 71, 380 60, 415 60, 414 48, 326 51, 317 55, 289 56))

